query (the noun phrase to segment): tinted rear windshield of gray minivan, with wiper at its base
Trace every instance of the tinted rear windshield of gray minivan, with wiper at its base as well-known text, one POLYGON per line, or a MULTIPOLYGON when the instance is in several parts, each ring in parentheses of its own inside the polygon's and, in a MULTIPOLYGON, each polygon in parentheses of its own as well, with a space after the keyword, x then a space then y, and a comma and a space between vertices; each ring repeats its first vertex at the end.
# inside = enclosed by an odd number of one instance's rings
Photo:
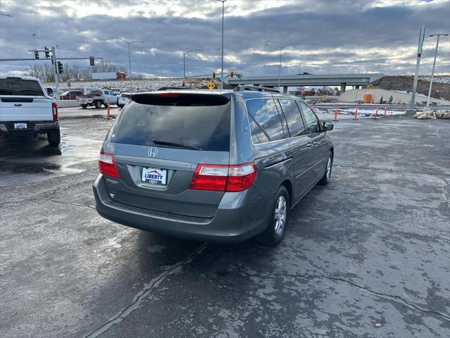
POLYGON ((229 151, 230 104, 160 106, 131 101, 120 113, 107 140, 161 147, 171 147, 167 145, 171 142, 198 150, 229 151))

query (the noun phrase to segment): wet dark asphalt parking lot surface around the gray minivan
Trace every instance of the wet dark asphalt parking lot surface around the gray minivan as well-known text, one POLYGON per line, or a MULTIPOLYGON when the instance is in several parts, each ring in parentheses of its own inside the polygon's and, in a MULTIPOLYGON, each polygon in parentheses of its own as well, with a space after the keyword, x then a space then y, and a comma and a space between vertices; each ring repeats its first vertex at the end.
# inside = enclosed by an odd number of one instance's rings
POLYGON ((450 121, 336 123, 332 182, 274 248, 98 216, 112 123, 0 141, 1 337, 450 337, 450 121))

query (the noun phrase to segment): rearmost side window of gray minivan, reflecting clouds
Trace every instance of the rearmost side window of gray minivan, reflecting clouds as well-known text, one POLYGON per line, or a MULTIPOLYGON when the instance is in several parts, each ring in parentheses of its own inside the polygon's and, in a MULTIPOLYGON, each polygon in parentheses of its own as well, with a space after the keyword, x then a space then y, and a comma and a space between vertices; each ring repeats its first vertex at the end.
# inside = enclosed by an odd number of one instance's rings
POLYGON ((247 105, 248 120, 254 144, 285 138, 274 99, 248 100, 245 104, 247 105))

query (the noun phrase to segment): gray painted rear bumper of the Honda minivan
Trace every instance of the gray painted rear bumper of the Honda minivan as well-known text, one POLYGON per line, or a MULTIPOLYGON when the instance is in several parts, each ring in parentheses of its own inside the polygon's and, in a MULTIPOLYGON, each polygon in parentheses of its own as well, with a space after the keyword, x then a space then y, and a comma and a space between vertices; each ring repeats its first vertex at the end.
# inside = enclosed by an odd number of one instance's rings
POLYGON ((266 201, 257 192, 249 190, 226 193, 213 218, 194 218, 148 211, 120 204, 108 195, 103 175, 98 175, 93 184, 97 212, 115 223, 136 229, 167 234, 182 239, 203 242, 238 243, 255 237, 264 231, 268 223, 266 201), (255 199, 255 194, 259 198, 255 199))

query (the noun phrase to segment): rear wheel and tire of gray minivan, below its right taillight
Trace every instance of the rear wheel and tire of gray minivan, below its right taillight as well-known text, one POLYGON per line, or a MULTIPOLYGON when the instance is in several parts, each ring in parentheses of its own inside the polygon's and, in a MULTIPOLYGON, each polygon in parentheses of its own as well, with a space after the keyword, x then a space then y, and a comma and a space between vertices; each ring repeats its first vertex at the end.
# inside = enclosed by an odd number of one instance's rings
POLYGON ((284 186, 281 186, 271 206, 272 212, 269 224, 266 230, 257 237, 259 243, 275 246, 281 242, 286 232, 286 226, 288 225, 289 206, 288 190, 284 186))

